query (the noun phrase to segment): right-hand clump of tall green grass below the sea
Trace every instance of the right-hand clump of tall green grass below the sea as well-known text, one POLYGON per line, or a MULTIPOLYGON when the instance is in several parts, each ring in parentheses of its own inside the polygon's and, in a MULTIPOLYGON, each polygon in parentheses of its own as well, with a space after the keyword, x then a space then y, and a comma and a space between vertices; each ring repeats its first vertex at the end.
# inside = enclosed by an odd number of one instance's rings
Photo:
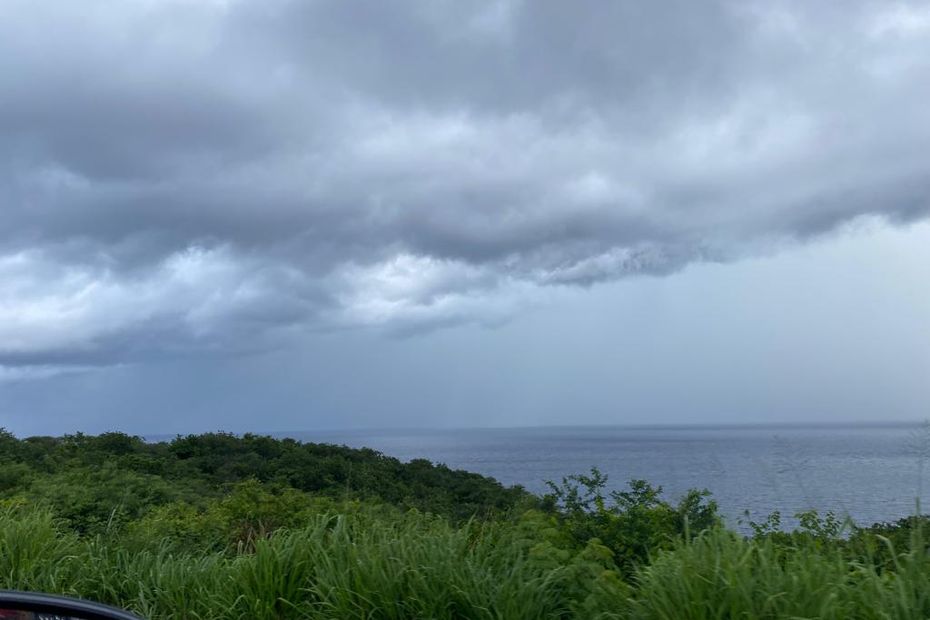
POLYGON ((895 569, 887 571, 814 540, 786 549, 772 539, 706 532, 639 571, 630 617, 927 618, 930 562, 915 543, 889 549, 895 569))

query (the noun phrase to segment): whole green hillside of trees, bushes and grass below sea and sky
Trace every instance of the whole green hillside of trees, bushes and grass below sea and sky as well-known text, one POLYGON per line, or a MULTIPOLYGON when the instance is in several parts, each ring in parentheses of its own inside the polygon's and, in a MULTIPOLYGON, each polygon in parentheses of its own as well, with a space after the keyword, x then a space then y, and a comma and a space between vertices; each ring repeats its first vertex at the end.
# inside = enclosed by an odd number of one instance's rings
POLYGON ((596 469, 539 497, 255 435, 0 431, 0 588, 146 618, 927 618, 927 520, 727 530, 596 469))

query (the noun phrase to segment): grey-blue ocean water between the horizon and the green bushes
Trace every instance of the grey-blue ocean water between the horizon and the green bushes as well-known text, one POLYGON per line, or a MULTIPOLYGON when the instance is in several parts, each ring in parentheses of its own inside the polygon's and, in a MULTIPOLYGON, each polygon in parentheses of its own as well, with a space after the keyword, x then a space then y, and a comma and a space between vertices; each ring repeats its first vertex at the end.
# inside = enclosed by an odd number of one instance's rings
MULTIPOLYGON (((727 521, 745 529, 773 511, 832 510, 859 525, 914 514, 930 492, 930 431, 918 425, 831 427, 541 427, 282 433, 370 447, 407 461, 492 476, 535 492, 592 466, 619 489, 641 478, 669 499, 707 488, 727 521), (923 455, 923 456, 922 456, 923 455), (923 487, 923 488, 922 488, 923 487), (746 513, 748 511, 748 517, 746 513), (742 525, 740 524, 742 522, 742 525)), ((930 504, 930 500, 927 502, 930 504)))

